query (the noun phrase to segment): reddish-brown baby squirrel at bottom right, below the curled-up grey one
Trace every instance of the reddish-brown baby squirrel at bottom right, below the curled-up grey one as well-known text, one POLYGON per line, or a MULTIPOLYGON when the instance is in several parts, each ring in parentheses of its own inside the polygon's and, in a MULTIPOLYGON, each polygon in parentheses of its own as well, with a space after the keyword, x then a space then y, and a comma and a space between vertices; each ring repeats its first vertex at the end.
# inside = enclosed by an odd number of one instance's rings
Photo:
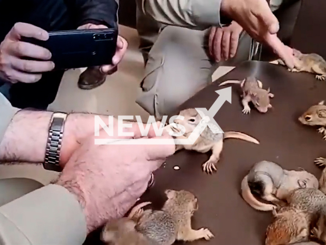
POLYGON ((312 227, 326 213, 326 195, 316 188, 295 189, 286 202, 287 206, 273 210, 274 220, 267 228, 265 245, 309 241, 312 227))

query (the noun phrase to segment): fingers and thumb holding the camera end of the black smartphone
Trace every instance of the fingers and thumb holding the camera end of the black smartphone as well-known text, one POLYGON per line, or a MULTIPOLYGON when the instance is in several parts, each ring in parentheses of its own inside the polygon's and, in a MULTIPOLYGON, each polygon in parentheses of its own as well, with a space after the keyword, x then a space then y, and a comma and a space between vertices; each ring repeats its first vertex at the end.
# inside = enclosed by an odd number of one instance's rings
MULTIPOLYGON (((83 26, 78 27, 77 29, 106 29, 107 27, 103 24, 84 24, 83 26)), ((116 47, 116 53, 112 58, 112 64, 111 65, 102 65, 100 67, 100 71, 103 74, 111 75, 113 74, 117 69, 117 65, 121 62, 122 58, 124 57, 125 53, 127 52, 128 42, 126 39, 124 39, 121 36, 118 36, 117 39, 117 47, 116 47)))

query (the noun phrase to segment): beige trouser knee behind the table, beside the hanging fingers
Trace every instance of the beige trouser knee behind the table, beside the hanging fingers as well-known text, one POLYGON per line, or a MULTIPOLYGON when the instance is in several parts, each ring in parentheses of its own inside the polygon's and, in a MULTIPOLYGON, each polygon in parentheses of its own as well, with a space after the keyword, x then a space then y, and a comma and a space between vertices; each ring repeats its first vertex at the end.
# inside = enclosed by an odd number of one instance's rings
MULTIPOLYGON (((212 82, 218 64, 207 56, 208 30, 167 26, 148 54, 142 92, 136 102, 157 118, 176 112, 178 106, 212 82)), ((243 32, 237 55, 247 60, 250 38, 243 32)))

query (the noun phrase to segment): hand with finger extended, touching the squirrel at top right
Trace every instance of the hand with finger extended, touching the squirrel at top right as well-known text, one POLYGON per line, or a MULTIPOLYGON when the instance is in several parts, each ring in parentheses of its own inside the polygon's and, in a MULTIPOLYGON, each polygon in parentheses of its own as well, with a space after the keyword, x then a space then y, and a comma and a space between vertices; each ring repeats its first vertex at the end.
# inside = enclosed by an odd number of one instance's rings
POLYGON ((289 68, 293 68, 293 56, 276 35, 279 21, 266 0, 222 0, 221 14, 239 23, 256 41, 270 46, 289 68))

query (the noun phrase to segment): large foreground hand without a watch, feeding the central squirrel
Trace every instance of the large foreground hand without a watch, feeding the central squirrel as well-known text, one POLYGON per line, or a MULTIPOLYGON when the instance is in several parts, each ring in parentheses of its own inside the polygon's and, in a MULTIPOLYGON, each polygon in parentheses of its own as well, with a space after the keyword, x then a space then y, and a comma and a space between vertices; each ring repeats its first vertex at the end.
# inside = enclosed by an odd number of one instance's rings
MULTIPOLYGON (((96 145, 94 139, 113 137, 101 130, 77 149, 55 184, 75 194, 83 207, 88 233, 107 220, 122 217, 145 192, 151 173, 174 154, 173 138, 164 133, 155 137, 153 127, 148 137, 171 140, 171 144, 131 144, 141 138, 137 123, 125 132, 134 136, 115 136, 125 139, 124 144, 96 145), (130 142, 130 144, 128 144, 130 142)), ((114 130, 116 135, 116 131, 114 130)))

